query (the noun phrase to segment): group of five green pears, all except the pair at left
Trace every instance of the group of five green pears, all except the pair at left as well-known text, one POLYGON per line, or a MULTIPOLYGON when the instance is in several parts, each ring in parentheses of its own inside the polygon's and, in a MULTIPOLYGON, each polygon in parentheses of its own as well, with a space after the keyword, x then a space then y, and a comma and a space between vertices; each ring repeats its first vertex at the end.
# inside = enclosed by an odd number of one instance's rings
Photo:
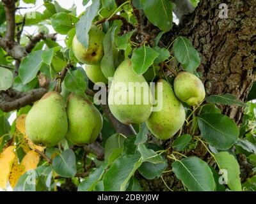
MULTIPOLYGON (((104 33, 95 25, 89 31, 89 45, 86 49, 76 38, 73 39, 72 49, 76 58, 86 64, 86 74, 93 83, 104 82, 108 84, 108 79, 102 73, 100 61, 104 55, 103 38, 104 33)), ((114 55, 114 53, 113 53, 114 55)), ((116 57, 115 57, 116 58, 116 57)), ((138 75, 132 68, 130 59, 126 59, 116 68, 109 88, 109 109, 111 113, 124 124, 140 124, 146 122, 148 129, 162 140, 172 137, 182 128, 186 113, 182 102, 188 105, 198 105, 205 98, 204 85, 198 77, 188 72, 180 72, 174 80, 173 88, 165 80, 158 80, 155 87, 155 97, 143 77, 138 75), (122 82, 127 89, 120 91, 119 82, 122 82), (129 82, 146 84, 148 91, 129 87, 129 82), (163 84, 163 98, 157 99, 159 92, 158 84, 163 84), (174 90, 173 90, 174 89, 174 90), (116 102, 118 96, 132 96, 132 103, 126 98, 126 103, 116 102), (149 103, 143 103, 147 99, 149 103), (157 104, 152 101, 156 99, 157 104), (161 100, 161 101, 160 101, 161 100), (138 103, 134 103, 134 101, 138 103), (150 103, 151 102, 151 103, 150 103), (163 106, 160 111, 152 112, 153 107, 161 103, 163 106)))

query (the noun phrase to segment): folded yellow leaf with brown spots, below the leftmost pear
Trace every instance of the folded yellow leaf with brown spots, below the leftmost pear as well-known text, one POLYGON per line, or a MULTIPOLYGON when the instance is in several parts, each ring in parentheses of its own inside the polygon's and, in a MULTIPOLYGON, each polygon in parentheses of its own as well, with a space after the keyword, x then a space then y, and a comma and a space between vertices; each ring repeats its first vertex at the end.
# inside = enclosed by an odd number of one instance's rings
POLYGON ((39 154, 34 152, 34 150, 29 150, 26 156, 23 157, 20 164, 18 164, 18 160, 15 161, 9 177, 11 186, 15 187, 19 178, 28 170, 34 170, 37 167, 39 160, 39 154))

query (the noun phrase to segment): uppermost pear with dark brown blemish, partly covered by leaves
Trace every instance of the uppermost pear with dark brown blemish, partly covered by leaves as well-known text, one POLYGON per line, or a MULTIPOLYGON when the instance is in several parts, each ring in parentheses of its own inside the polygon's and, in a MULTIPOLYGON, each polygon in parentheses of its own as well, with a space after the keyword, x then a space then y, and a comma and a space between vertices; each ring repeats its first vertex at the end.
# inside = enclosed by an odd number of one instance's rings
POLYGON ((72 50, 80 62, 99 64, 104 54, 102 43, 104 33, 96 25, 92 25, 88 35, 89 45, 87 49, 77 40, 75 35, 72 41, 72 50))

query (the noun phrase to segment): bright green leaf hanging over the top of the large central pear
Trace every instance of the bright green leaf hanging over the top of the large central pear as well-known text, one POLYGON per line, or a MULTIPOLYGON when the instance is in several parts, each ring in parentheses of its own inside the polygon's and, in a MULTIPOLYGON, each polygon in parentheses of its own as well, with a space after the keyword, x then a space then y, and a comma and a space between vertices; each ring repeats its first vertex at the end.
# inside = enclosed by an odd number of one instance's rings
POLYGON ((142 75, 153 64, 158 55, 158 52, 145 46, 145 44, 140 48, 136 48, 133 51, 131 58, 134 71, 139 75, 142 75))

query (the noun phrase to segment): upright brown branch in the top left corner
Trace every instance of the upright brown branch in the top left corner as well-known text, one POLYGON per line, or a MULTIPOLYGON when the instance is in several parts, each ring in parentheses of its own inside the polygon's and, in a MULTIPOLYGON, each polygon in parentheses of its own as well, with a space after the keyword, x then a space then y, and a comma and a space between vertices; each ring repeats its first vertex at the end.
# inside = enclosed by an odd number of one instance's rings
POLYGON ((3 0, 6 15, 6 35, 8 41, 14 41, 15 38, 15 0, 3 0))

